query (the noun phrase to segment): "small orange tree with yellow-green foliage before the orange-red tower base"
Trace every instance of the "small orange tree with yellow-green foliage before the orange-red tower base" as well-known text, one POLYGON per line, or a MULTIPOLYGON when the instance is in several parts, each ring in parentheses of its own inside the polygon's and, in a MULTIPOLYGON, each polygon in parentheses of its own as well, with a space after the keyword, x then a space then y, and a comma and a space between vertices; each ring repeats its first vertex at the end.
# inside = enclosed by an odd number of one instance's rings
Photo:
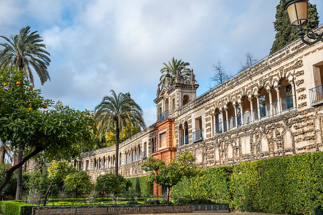
POLYGON ((158 185, 167 187, 167 202, 172 186, 182 180, 183 176, 190 178, 196 174, 195 157, 189 151, 183 152, 177 159, 171 159, 166 165, 164 160, 147 158, 141 169, 151 171, 148 179, 158 185))

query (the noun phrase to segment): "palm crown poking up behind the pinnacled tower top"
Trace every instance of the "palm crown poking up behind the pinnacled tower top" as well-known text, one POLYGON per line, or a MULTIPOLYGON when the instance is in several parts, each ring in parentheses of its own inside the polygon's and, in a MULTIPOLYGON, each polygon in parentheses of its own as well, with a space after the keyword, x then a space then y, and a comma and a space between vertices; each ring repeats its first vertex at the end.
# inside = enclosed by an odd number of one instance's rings
POLYGON ((172 59, 168 61, 167 64, 166 63, 162 63, 162 64, 164 65, 164 67, 161 68, 162 75, 159 78, 160 84, 164 83, 167 71, 170 73, 170 75, 173 78, 176 78, 177 69, 179 70, 180 73, 182 73, 184 77, 186 77, 188 80, 191 80, 191 70, 186 68, 187 66, 190 65, 190 63, 184 62, 182 61, 182 59, 177 60, 174 57, 172 57, 172 59))

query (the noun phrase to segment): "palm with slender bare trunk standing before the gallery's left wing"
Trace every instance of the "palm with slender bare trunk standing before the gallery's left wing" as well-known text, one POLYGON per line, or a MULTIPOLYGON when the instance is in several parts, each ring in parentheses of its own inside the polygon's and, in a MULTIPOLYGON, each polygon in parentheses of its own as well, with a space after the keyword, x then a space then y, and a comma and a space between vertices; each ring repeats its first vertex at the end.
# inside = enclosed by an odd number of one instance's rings
POLYGON ((112 96, 103 97, 101 103, 95 107, 94 117, 98 123, 98 137, 102 132, 106 133, 114 127, 116 129, 116 156, 115 156, 115 175, 118 176, 119 165, 119 136, 126 125, 146 128, 143 120, 141 107, 130 98, 130 94, 119 93, 110 90, 112 96), (112 125, 112 126, 111 126, 112 125))

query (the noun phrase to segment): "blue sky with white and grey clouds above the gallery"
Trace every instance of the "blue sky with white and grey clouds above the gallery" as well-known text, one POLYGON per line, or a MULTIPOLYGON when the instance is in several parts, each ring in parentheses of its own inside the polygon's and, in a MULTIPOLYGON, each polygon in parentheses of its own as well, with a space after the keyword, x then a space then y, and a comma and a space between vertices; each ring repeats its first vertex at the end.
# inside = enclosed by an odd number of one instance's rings
MULTIPOLYGON (((189 62, 201 95, 218 59, 235 74, 246 52, 269 54, 278 2, 0 0, 0 35, 29 25, 44 37, 51 82, 35 83, 44 97, 83 110, 110 89, 130 92, 150 125, 163 62, 173 56, 189 62)), ((322 0, 310 2, 322 24, 322 0)))

